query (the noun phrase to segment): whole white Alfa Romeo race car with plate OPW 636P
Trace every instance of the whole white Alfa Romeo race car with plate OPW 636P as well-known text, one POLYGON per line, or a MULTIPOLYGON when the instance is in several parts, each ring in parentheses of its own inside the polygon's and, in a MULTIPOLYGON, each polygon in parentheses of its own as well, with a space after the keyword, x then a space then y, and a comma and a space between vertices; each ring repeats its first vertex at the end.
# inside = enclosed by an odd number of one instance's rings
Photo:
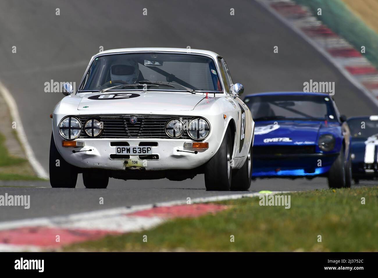
POLYGON ((54 108, 52 187, 115 179, 184 180, 208 190, 251 184, 254 121, 225 60, 206 50, 124 48, 93 56, 54 108))

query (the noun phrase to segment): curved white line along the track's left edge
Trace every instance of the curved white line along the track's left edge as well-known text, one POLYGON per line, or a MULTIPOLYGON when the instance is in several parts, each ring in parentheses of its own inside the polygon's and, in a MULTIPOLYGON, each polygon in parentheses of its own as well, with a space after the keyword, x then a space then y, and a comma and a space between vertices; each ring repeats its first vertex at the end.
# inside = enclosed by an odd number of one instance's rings
POLYGON ((22 147, 25 150, 25 154, 30 162, 30 165, 33 167, 38 177, 42 179, 48 179, 49 176, 47 172, 37 160, 36 156, 34 155, 33 149, 31 148, 28 139, 26 138, 25 130, 23 129, 20 114, 17 109, 17 104, 11 93, 9 93, 8 89, 6 89, 2 82, 0 82, 0 93, 9 107, 12 120, 15 121, 17 124, 16 132, 22 144, 22 147))

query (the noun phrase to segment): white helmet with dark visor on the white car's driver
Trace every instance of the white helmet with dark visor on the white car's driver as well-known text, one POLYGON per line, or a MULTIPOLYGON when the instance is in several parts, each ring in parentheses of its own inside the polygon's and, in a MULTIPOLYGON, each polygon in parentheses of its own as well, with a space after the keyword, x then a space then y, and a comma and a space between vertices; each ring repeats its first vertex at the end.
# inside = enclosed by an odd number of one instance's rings
POLYGON ((110 79, 112 81, 122 80, 128 84, 133 84, 138 80, 139 65, 133 59, 127 59, 122 64, 110 67, 110 79))

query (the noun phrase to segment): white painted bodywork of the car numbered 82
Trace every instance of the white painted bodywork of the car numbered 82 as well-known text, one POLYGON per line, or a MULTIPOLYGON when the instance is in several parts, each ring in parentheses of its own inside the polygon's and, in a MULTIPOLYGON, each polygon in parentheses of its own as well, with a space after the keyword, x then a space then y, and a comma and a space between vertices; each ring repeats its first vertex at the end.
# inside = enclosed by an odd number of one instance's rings
MULTIPOLYGON (((96 56, 106 53, 125 53, 136 51, 163 51, 187 53, 186 48, 124 48, 119 50, 107 50, 96 54, 96 56)), ((210 56, 217 63, 217 54, 206 50, 191 50, 191 53, 210 56)), ((87 72, 87 71, 85 71, 87 72)), ((219 72, 219 71, 218 71, 219 72)), ((222 78, 222 87, 225 88, 222 78)), ((153 89, 153 87, 151 87, 153 89)), ((110 146, 110 141, 127 141, 130 146, 138 146, 141 141, 158 142, 157 147, 153 147, 153 154, 159 155, 159 160, 147 160, 144 167, 146 170, 166 170, 166 169, 193 169, 206 163, 218 150, 226 128, 229 124, 235 126, 235 144, 232 159, 233 168, 240 168, 246 160, 249 146, 252 141, 254 121, 248 107, 239 99, 234 98, 232 93, 209 93, 206 99, 204 93, 192 94, 190 92, 169 92, 169 91, 107 91, 105 93, 76 93, 63 98, 55 107, 53 112, 53 135, 59 153, 70 164, 81 168, 105 168, 113 170, 125 169, 124 160, 110 160, 109 155, 115 154, 115 148, 110 146), (140 96, 130 99, 119 100, 93 100, 89 96, 112 94, 112 93, 138 93, 140 96), (242 149, 240 144, 241 109, 245 110, 245 138, 242 149), (87 107, 87 108, 84 108, 87 107), (77 139, 85 141, 83 148, 75 148, 76 151, 92 149, 91 152, 76 152, 74 148, 63 148, 61 141, 64 140, 59 134, 58 125, 60 120, 68 115, 91 115, 96 116, 109 114, 152 114, 152 115, 172 115, 172 116, 201 116, 206 118, 211 126, 210 135, 204 140, 209 142, 209 149, 198 151, 198 154, 189 152, 177 152, 177 149, 184 149, 184 142, 188 139, 152 139, 152 138, 120 138, 120 139, 77 139), (223 118, 226 115, 226 119, 223 118)), ((130 158, 138 158, 137 156, 130 158)))

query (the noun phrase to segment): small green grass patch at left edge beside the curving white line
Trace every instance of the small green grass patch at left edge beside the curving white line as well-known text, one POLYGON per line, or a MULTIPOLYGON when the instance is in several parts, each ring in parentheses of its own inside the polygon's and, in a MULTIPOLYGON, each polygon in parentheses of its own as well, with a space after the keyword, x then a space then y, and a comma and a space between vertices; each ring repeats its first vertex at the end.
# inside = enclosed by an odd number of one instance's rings
POLYGON ((42 180, 31 171, 28 160, 9 155, 0 134, 0 180, 42 180))

